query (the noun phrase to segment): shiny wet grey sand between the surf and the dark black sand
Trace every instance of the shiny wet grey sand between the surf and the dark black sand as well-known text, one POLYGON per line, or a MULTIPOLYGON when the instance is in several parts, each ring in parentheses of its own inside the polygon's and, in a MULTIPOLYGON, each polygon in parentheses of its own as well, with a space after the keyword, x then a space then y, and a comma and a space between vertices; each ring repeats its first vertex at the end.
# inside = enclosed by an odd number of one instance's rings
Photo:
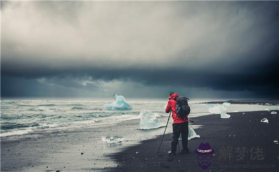
MULTIPOLYGON (((1 139, 1 171, 107 170, 119 163, 106 155, 152 139, 164 130, 140 130, 137 129, 139 124, 140 119, 135 119, 111 126, 4 137, 1 139), (101 141, 101 136, 106 135, 125 136, 125 140, 109 145, 101 141)), ((167 132, 171 132, 170 129, 167 132)))

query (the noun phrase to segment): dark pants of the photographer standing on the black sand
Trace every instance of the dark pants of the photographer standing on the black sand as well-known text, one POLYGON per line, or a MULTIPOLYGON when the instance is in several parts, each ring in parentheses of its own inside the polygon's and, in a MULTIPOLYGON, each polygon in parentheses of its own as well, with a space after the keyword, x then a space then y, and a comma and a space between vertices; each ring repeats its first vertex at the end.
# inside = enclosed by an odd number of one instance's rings
POLYGON ((182 148, 188 149, 188 122, 172 124, 171 152, 177 151, 178 139, 181 134, 182 148))

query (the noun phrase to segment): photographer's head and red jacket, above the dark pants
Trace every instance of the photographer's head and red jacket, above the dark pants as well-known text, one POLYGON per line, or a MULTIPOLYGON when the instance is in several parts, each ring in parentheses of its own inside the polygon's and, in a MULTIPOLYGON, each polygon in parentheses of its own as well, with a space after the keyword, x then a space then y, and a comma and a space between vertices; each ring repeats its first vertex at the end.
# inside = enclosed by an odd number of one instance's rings
POLYGON ((185 116, 184 118, 181 118, 176 114, 177 101, 175 100, 175 98, 178 98, 177 93, 174 93, 169 97, 169 100, 168 100, 167 106, 166 106, 166 113, 169 113, 170 110, 172 111, 171 116, 172 116, 172 119, 173 119, 173 123, 187 122, 188 121, 188 115, 185 116))

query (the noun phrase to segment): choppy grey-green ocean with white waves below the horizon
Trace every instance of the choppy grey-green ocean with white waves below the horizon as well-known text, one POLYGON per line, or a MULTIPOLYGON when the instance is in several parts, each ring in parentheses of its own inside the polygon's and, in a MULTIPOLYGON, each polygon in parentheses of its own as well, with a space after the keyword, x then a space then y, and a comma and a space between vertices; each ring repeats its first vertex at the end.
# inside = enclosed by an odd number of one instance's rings
MULTIPOLYGON (((106 110, 105 104, 113 101, 83 100, 1 100, 1 137, 53 130, 77 129, 138 119, 143 109, 156 116, 168 116, 164 112, 167 101, 130 101, 132 110, 106 110)), ((213 104, 198 104, 190 101, 191 114, 211 114, 213 104)), ((279 106, 231 105, 227 112, 279 110, 279 106)))

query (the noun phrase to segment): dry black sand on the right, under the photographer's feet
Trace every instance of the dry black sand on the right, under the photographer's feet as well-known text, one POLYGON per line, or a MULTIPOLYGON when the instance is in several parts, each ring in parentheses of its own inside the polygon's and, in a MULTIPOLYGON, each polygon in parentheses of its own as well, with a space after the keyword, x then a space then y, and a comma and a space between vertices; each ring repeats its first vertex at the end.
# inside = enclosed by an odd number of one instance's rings
POLYGON ((215 150, 212 164, 205 171, 278 171, 279 145, 273 142, 279 138, 278 115, 268 111, 229 114, 229 119, 221 119, 220 115, 194 118, 194 123, 203 127, 195 129, 201 138, 189 141, 189 154, 167 155, 171 134, 166 135, 157 153, 161 141, 158 136, 111 155, 121 165, 110 171, 203 171, 194 153, 201 142, 210 143, 215 150), (260 122, 264 117, 269 123, 260 122), (243 147, 247 152, 241 157, 237 149, 243 147))

